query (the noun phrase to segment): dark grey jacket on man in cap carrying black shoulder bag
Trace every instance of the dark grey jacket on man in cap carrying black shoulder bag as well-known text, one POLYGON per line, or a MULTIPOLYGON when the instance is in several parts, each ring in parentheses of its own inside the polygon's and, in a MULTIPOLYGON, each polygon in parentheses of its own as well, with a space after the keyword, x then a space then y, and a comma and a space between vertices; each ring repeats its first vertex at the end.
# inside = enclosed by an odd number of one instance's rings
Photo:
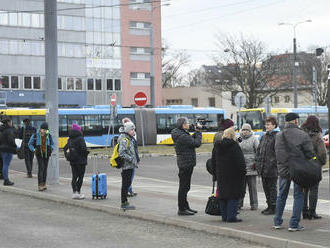
POLYGON ((290 179, 288 159, 289 151, 284 143, 283 133, 290 144, 302 152, 306 159, 314 157, 313 143, 309 135, 293 123, 286 123, 284 130, 276 135, 275 153, 280 177, 290 179))

